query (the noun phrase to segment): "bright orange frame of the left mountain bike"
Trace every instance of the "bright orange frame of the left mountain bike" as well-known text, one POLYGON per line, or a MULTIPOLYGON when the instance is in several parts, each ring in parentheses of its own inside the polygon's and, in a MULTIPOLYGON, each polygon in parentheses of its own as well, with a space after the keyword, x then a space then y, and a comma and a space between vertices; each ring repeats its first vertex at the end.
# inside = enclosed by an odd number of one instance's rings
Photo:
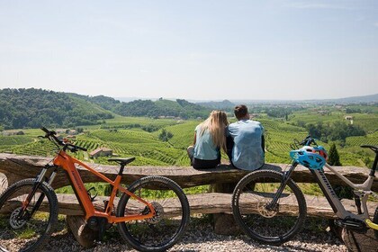
POLYGON ((54 158, 53 161, 55 166, 62 167, 69 176, 71 185, 74 187, 74 191, 76 193, 77 201, 82 206, 83 210, 85 211, 85 220, 88 220, 92 216, 96 217, 104 217, 108 220, 109 223, 117 223, 117 222, 125 222, 130 220, 145 220, 152 218, 155 215, 155 209, 151 205, 151 203, 144 201, 134 193, 130 193, 129 190, 121 186, 121 175, 117 175, 114 181, 102 175, 101 173, 95 171, 93 168, 85 165, 84 163, 77 160, 75 157, 69 156, 65 151, 60 150, 58 152, 57 157, 54 158), (103 181, 112 184, 112 193, 109 198, 109 202, 106 206, 104 211, 97 211, 94 208, 94 204, 92 203, 88 193, 86 192, 85 185, 83 180, 81 179, 80 174, 78 173, 75 164, 78 166, 82 166, 94 175, 103 179, 103 181), (130 195, 131 198, 142 202, 149 208, 148 214, 130 214, 125 217, 116 217, 112 215, 112 205, 114 202, 115 195, 117 191, 121 191, 121 193, 126 193, 130 195))

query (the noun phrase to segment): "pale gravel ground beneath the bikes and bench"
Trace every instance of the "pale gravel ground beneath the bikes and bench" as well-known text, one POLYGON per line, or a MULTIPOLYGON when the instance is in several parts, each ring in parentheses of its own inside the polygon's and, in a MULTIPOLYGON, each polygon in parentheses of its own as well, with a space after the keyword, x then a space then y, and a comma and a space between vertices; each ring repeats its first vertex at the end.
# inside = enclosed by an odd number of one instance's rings
MULTIPOLYGON (((55 234, 49 239, 44 251, 136 251, 130 249, 118 235, 116 229, 110 229, 106 241, 97 243, 95 247, 84 249, 76 242, 72 234, 66 230, 55 234)), ((184 238, 169 251, 321 251, 338 252, 347 251, 347 247, 331 232, 318 230, 302 231, 293 240, 280 247, 261 245, 245 235, 223 236, 214 234, 211 225, 205 221, 191 221, 184 238), (194 223, 193 223, 194 222, 194 223)))

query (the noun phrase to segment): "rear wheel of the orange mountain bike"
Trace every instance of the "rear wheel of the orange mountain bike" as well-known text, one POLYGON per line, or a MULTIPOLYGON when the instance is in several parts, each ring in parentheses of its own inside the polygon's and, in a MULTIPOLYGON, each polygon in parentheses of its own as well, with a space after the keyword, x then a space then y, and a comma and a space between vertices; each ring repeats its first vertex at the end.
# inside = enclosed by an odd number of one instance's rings
MULTIPOLYGON (((190 217, 189 202, 181 187, 171 179, 151 175, 130 184, 128 190, 152 203, 157 215, 148 220, 118 223, 121 237, 139 251, 165 251, 173 247, 184 235, 190 217)), ((117 216, 145 213, 146 210, 145 204, 123 193, 117 216)))

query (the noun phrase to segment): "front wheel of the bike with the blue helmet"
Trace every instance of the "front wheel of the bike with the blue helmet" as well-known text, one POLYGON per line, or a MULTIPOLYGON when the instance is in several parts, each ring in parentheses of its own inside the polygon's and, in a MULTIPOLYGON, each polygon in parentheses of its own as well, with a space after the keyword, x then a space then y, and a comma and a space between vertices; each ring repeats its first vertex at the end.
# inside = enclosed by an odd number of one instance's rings
POLYGON ((234 219, 250 238, 280 245, 302 229, 307 206, 293 179, 288 180, 275 209, 266 209, 283 178, 282 173, 259 170, 244 176, 235 187, 232 194, 234 219))

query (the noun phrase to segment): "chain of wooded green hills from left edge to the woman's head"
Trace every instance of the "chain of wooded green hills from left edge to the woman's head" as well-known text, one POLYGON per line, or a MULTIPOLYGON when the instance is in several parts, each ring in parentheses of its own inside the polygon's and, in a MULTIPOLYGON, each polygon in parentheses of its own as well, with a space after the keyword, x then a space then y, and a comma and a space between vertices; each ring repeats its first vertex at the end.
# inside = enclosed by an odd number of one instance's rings
POLYGON ((0 130, 46 127, 76 127, 99 124, 122 116, 151 118, 206 118, 210 109, 185 100, 159 99, 121 103, 103 95, 21 88, 0 90, 0 130))

